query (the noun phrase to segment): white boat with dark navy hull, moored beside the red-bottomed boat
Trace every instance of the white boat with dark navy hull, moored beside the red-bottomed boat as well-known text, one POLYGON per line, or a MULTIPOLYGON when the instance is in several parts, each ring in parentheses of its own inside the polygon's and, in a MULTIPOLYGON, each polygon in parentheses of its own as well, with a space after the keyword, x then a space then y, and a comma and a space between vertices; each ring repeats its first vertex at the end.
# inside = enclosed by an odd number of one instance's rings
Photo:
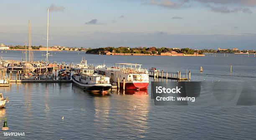
POLYGON ((112 87, 108 76, 95 74, 94 69, 80 69, 72 75, 73 83, 88 91, 105 93, 112 87))

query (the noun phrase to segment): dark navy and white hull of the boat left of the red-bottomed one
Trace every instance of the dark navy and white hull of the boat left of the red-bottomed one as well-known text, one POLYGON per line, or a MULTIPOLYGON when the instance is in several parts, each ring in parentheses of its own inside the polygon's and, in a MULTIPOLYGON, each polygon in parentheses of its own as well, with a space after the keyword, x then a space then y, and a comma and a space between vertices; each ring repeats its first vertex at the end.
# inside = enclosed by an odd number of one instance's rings
POLYGON ((92 91, 92 92, 108 92, 108 90, 112 87, 110 84, 81 84, 72 76, 73 83, 82 88, 83 90, 92 91))

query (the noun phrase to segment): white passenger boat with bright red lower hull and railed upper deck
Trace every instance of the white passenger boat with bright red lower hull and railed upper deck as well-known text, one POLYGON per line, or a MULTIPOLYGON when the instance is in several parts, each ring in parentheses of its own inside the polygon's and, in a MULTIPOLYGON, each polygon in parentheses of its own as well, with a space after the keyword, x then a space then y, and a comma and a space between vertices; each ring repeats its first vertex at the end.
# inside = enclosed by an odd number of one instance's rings
POLYGON ((123 81, 125 80, 125 89, 148 88, 148 71, 141 69, 141 64, 116 63, 113 67, 103 67, 95 70, 98 74, 110 77, 110 83, 113 85, 117 85, 119 79, 120 87, 123 87, 123 81))

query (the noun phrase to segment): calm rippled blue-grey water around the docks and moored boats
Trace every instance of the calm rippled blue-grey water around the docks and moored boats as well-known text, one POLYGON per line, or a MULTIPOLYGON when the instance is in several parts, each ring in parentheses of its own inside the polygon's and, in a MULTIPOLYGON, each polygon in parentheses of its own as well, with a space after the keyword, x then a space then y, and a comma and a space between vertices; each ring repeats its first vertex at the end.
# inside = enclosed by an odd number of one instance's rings
MULTIPOLYGON (((34 59, 44 59, 41 54, 35 51, 34 59)), ((0 56, 21 59, 22 52, 4 51, 0 56)), ((168 57, 53 52, 49 60, 76 64, 82 56, 88 64, 94 65, 105 60, 107 66, 129 62, 168 72, 181 70, 185 73, 188 69, 192 71, 193 81, 256 81, 254 55, 168 57), (232 74, 230 64, 233 66, 232 74), (200 66, 204 70, 202 74, 200 66)), ((150 88, 149 85, 148 91, 130 95, 112 91, 104 96, 82 91, 72 83, 19 83, 12 84, 10 88, 0 88, 0 92, 10 100, 5 110, 0 112, 0 118, 7 118, 8 132, 25 132, 25 137, 4 137, 2 133, 0 139, 256 138, 255 106, 154 106, 150 88)), ((3 120, 0 125, 3 125, 3 120)))

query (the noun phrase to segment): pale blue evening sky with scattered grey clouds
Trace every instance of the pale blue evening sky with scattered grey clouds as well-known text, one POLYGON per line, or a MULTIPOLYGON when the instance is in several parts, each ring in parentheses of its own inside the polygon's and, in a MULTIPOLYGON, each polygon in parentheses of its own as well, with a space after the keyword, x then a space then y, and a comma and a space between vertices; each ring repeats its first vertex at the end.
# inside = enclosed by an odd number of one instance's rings
POLYGON ((5 0, 0 43, 256 49, 256 0, 5 0))

